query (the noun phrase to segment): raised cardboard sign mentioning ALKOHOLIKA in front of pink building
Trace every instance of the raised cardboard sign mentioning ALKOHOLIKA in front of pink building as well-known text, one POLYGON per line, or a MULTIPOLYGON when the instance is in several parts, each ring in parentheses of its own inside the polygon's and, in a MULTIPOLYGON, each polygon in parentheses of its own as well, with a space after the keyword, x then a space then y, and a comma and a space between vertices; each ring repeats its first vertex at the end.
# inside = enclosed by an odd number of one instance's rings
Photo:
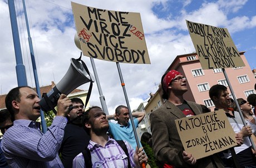
POLYGON ((203 69, 244 67, 227 28, 186 21, 203 69))

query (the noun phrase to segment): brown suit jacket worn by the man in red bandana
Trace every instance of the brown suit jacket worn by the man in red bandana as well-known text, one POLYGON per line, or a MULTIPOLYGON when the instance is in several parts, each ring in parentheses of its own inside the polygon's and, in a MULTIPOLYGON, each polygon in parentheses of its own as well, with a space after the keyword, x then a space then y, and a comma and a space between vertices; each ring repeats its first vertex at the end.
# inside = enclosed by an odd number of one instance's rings
MULTIPOLYGON (((202 114, 201 105, 191 101, 186 102, 195 115, 202 114)), ((153 150, 156 159, 175 167, 224 167, 218 154, 196 160, 194 166, 183 160, 184 147, 176 129, 175 120, 185 117, 183 112, 170 101, 166 101, 150 114, 153 150)))

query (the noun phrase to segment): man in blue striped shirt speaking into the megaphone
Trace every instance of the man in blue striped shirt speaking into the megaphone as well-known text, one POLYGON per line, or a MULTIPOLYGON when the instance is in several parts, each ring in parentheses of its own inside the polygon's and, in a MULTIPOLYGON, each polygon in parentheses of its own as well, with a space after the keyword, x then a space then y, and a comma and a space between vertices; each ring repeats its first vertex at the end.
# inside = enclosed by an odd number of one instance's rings
POLYGON ((63 167, 58 149, 71 100, 61 94, 57 115, 45 134, 36 122, 40 116, 39 101, 36 91, 29 86, 14 88, 6 96, 6 107, 14 121, 3 136, 1 148, 10 167, 63 167))

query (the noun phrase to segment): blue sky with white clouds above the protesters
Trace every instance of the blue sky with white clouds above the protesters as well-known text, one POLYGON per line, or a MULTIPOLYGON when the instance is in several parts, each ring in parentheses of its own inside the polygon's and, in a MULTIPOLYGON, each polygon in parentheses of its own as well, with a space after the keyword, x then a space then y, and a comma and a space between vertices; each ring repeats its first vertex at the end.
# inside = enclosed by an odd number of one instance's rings
MULTIPOLYGON (((16 5, 19 39, 27 83, 35 87, 31 57, 27 42, 26 22, 21 0, 16 5)), ((70 67, 70 59, 78 58, 80 50, 74 43, 76 34, 71 1, 26 0, 27 15, 36 58, 40 86, 57 84, 70 67)), ((249 0, 73 0, 85 6, 111 11, 139 12, 151 64, 120 63, 122 77, 131 110, 155 93, 161 76, 177 55, 195 52, 185 20, 223 27, 239 51, 245 51, 251 69, 256 68, 256 1, 249 0)), ((16 59, 7 0, 0 0, 0 94, 18 86, 16 59)), ((16 37, 17 38, 17 37, 16 37)), ((91 74, 89 57, 82 57, 91 74)), ((109 114, 118 105, 126 105, 116 63, 94 59, 102 93, 109 114)), ((94 75, 93 75, 94 76, 94 75)), ((87 90, 89 84, 78 89, 87 90)), ((101 106, 96 82, 90 105, 101 106)))

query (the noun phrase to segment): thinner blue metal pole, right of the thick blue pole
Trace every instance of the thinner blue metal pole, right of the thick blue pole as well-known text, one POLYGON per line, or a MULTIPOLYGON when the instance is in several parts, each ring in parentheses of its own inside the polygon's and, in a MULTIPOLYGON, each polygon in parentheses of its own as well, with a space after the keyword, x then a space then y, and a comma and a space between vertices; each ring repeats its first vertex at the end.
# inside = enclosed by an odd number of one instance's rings
MULTIPOLYGON (((41 99, 41 91, 40 91, 40 86, 39 86, 39 83, 38 83, 35 54, 34 54, 32 39, 31 39, 31 35, 30 35, 30 31, 29 31, 29 25, 28 25, 26 4, 25 4, 24 0, 22 0, 22 3, 23 3, 23 9, 24 9, 24 16, 25 16, 25 19, 26 19, 26 26, 27 26, 27 32, 28 32, 28 45, 29 45, 29 50, 30 50, 30 55, 31 55, 33 74, 34 74, 34 78, 35 78, 36 92, 37 92, 39 98, 41 99)), ((43 133, 46 133, 47 126, 46 126, 46 121, 45 121, 45 114, 43 113, 42 110, 40 110, 40 115, 41 115, 42 131, 43 131, 43 133)))

